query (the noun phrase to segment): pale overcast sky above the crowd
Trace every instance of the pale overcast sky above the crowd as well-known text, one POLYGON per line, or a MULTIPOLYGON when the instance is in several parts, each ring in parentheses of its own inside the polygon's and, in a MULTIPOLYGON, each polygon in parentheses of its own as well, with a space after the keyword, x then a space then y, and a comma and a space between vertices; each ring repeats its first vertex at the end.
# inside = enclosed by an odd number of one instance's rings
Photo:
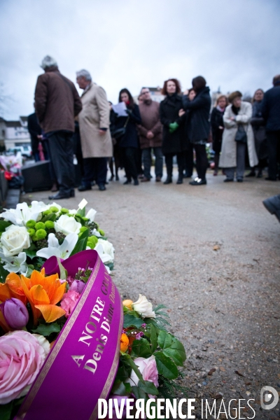
POLYGON ((0 0, 1 116, 33 112, 45 55, 73 81, 90 71, 112 102, 170 77, 183 89, 202 75, 211 91, 267 90, 280 73, 279 18, 279 0, 0 0))

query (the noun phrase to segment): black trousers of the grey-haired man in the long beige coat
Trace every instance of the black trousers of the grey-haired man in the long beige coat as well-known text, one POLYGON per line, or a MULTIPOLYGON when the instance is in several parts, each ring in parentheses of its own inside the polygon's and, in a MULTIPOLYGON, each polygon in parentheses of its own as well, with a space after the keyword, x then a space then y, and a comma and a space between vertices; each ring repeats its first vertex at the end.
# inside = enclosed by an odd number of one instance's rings
POLYGON ((106 183, 107 158, 85 158, 83 160, 83 179, 82 183, 90 187, 94 180, 98 185, 106 183))

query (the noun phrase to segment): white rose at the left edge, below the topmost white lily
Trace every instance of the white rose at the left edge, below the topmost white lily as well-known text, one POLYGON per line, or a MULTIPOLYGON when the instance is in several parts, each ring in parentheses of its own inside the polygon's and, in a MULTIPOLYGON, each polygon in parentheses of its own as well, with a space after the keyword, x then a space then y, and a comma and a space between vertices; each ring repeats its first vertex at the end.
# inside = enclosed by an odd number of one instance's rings
POLYGON ((11 225, 1 235, 1 244, 5 257, 18 255, 23 249, 29 248, 30 237, 24 226, 11 225))

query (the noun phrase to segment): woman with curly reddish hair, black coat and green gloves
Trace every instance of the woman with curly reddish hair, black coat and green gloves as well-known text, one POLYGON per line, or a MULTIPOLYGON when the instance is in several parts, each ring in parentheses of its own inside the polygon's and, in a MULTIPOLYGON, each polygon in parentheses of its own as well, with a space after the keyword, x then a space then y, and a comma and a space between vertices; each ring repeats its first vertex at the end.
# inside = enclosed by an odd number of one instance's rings
POLYGON ((185 116, 179 116, 182 110, 181 85, 179 80, 172 78, 165 80, 162 94, 166 98, 160 102, 160 121, 162 130, 162 153, 165 155, 167 179, 165 184, 172 183, 173 157, 176 155, 179 170, 178 184, 183 183, 184 151, 187 143, 183 127, 185 116))

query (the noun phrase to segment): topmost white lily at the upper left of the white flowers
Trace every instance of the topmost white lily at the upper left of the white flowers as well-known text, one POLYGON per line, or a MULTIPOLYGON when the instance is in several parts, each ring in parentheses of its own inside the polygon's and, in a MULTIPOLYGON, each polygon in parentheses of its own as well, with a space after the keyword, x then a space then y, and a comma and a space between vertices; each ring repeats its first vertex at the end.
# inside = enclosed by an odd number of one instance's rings
POLYGON ((17 204, 16 209, 5 209, 0 217, 6 221, 10 221, 13 225, 25 226, 28 221, 39 221, 41 219, 42 211, 46 210, 47 206, 43 202, 31 202, 31 207, 27 203, 17 204))

